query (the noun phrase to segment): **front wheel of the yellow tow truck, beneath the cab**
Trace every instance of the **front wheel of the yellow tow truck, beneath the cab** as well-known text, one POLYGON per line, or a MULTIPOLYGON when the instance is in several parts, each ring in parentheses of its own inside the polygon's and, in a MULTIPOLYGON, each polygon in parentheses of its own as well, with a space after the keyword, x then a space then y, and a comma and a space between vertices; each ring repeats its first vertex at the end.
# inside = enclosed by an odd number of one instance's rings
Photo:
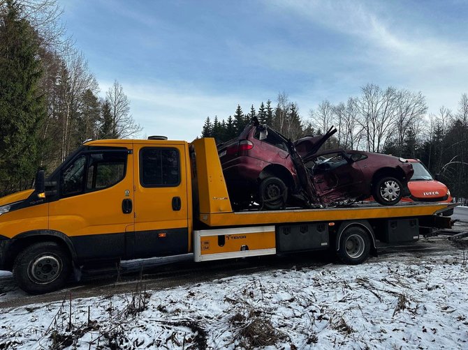
POLYGON ((54 242, 29 245, 17 255, 13 278, 30 294, 43 294, 64 286, 71 273, 68 252, 54 242))

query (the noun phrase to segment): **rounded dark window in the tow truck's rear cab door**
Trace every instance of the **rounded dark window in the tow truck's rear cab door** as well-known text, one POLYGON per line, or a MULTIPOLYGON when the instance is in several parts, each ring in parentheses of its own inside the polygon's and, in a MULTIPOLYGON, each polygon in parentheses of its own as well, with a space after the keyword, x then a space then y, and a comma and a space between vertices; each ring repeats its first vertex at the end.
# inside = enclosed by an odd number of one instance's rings
POLYGON ((140 183, 143 187, 175 187, 180 184, 179 151, 145 147, 140 151, 140 183))

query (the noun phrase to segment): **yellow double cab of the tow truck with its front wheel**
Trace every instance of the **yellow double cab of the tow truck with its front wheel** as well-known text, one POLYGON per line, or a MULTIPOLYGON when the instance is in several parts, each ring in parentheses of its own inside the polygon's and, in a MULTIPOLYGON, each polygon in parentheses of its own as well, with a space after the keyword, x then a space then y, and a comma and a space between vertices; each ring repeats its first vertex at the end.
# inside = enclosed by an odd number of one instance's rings
POLYGON ((0 199, 0 269, 34 293, 61 284, 72 262, 187 253, 189 179, 187 142, 86 142, 48 176, 44 193, 0 199))

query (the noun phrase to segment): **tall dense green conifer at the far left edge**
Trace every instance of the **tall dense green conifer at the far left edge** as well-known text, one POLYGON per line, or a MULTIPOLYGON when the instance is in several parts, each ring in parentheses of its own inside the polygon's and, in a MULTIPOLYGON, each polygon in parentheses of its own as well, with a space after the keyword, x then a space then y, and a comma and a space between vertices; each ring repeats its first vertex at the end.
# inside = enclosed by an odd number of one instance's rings
POLYGON ((19 11, 7 0, 0 15, 0 195, 31 185, 46 117, 38 37, 19 11))

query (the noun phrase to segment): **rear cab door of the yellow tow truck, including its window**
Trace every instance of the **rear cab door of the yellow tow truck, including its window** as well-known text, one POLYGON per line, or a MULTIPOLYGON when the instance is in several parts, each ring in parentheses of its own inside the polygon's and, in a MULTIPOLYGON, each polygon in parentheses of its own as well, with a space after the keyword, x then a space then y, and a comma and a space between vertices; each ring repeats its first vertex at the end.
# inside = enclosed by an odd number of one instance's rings
POLYGON ((134 257, 189 250, 186 144, 134 144, 134 257))

